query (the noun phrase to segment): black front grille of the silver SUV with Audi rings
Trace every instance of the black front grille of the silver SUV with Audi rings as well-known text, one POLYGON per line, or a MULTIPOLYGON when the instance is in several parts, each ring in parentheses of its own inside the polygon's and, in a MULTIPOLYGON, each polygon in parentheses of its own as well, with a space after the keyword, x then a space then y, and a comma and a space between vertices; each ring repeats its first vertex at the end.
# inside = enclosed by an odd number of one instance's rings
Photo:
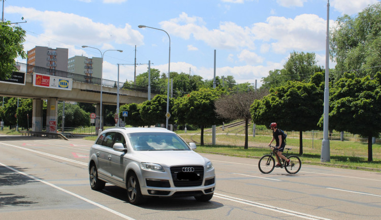
POLYGON ((172 166, 170 169, 175 187, 198 187, 202 185, 203 166, 172 166))

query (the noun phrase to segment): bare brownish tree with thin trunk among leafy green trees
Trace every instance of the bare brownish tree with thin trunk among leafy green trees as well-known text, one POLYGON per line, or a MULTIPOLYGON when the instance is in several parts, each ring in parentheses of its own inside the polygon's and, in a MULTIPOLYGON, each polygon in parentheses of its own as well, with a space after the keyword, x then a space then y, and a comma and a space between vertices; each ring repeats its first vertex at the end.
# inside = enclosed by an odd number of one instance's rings
POLYGON ((267 90, 238 92, 231 95, 223 95, 214 103, 215 112, 219 117, 230 120, 245 120, 244 149, 248 149, 248 123, 251 120, 250 105, 255 99, 261 99, 266 93, 267 90))

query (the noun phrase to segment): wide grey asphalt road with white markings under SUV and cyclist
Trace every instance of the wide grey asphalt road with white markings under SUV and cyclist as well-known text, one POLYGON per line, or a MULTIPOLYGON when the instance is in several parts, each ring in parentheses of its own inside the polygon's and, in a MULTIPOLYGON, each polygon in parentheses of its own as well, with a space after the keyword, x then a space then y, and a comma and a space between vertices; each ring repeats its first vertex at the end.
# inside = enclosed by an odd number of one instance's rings
POLYGON ((93 141, 0 135, 3 219, 380 219, 381 173, 302 165, 295 175, 258 170, 258 160, 203 154, 217 187, 209 202, 150 199, 134 206, 125 190, 90 189, 93 141))

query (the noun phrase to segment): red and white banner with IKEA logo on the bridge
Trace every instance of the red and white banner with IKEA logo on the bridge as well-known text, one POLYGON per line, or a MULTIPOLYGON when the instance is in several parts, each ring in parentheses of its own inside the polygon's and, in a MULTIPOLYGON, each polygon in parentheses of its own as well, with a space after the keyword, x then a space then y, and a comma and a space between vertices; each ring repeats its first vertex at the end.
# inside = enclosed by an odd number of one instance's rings
POLYGON ((52 88, 52 89, 64 89, 72 90, 73 79, 55 77, 44 74, 33 74, 33 86, 52 88))

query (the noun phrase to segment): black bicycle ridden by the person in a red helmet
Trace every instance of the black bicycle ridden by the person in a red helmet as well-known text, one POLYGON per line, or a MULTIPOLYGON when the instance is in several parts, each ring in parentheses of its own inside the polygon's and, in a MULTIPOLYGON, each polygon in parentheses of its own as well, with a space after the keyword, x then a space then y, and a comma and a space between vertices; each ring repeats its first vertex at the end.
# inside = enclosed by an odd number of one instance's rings
POLYGON ((280 168, 284 167, 284 169, 290 174, 295 174, 295 173, 299 172, 300 168, 302 167, 302 162, 300 161, 299 157, 296 155, 291 155, 291 156, 287 157, 289 150, 291 150, 292 148, 284 148, 287 150, 287 152, 283 155, 286 158, 290 159, 290 165, 289 166, 287 166, 285 160, 279 158, 279 156, 277 155, 278 151, 274 148, 274 146, 270 145, 270 148, 272 148, 270 154, 264 155, 263 157, 261 157, 261 159, 259 159, 259 162, 258 162, 259 170, 262 173, 268 174, 274 170, 275 159, 274 159, 273 155, 275 155, 275 157, 277 157, 279 159, 279 161, 281 161, 280 168))

